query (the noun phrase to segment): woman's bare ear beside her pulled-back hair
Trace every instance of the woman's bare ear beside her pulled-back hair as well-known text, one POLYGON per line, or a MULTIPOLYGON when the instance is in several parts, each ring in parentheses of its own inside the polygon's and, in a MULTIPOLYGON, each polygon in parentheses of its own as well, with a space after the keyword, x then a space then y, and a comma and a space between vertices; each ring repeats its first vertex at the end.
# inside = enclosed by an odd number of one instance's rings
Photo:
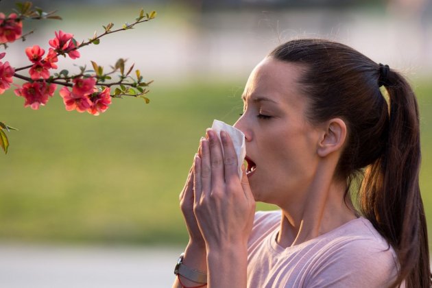
POLYGON ((318 143, 317 154, 326 157, 328 154, 341 150, 346 140, 346 124, 340 118, 326 121, 320 142, 318 143))

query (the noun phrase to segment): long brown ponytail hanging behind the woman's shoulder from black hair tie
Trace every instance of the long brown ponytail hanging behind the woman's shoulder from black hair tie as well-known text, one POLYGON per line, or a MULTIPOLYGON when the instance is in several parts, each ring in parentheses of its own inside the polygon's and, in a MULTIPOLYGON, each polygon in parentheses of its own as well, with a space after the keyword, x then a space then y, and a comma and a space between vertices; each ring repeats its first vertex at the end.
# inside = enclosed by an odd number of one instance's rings
POLYGON ((389 71, 387 144, 368 167, 360 192, 361 212, 392 245, 399 273, 392 287, 431 287, 429 245, 420 195, 420 125, 416 97, 406 80, 389 71))

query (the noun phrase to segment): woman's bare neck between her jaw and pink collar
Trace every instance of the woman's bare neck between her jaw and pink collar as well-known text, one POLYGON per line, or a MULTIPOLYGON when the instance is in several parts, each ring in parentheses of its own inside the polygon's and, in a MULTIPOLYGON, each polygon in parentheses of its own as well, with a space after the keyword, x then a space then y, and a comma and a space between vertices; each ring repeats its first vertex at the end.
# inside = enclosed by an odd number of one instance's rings
POLYGON ((345 191, 344 181, 317 173, 309 187, 300 193, 302 197, 281 206, 278 244, 298 245, 355 219, 354 211, 344 200, 345 191))

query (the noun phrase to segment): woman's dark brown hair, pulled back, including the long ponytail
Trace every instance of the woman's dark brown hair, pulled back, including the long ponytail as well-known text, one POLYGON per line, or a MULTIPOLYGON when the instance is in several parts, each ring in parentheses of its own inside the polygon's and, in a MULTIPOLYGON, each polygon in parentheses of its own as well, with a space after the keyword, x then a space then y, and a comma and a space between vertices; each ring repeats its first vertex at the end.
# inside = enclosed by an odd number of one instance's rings
POLYGON ((418 106, 407 81, 393 69, 387 70, 381 93, 379 64, 328 40, 291 40, 276 47, 269 57, 306 68, 300 86, 309 98, 307 117, 312 123, 333 117, 346 122, 348 138, 335 176, 346 179, 350 187, 356 176, 363 175, 359 212, 398 255, 398 277, 392 286, 405 281, 407 287, 431 287, 427 226, 418 184, 418 106))

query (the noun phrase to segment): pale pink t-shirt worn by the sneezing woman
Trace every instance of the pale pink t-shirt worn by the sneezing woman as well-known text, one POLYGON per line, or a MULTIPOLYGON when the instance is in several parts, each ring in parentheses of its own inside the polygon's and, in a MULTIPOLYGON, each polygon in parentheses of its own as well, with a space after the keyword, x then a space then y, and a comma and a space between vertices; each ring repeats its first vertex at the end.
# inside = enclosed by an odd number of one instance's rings
POLYGON ((387 287, 396 254, 363 217, 315 239, 276 243, 281 211, 257 212, 248 242, 248 287, 387 287))

